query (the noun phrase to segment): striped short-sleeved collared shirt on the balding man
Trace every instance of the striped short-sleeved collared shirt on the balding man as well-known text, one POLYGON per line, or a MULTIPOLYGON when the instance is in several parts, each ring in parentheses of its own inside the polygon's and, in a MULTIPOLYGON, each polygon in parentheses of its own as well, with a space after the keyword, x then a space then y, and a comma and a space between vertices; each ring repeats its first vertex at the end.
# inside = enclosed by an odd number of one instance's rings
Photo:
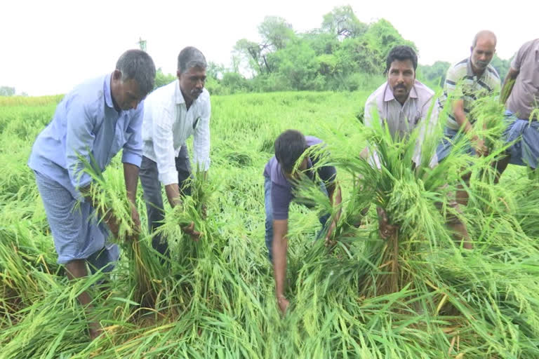
MULTIPOLYGON (((438 99, 438 107, 444 109, 445 104, 451 99, 464 100, 464 112, 470 123, 475 122, 472 118, 472 108, 474 101, 488 95, 500 93, 500 76, 498 72, 488 64, 481 76, 475 76, 472 71, 472 62, 470 57, 457 62, 447 70, 446 81, 444 83, 444 94, 438 99)), ((457 123, 453 111, 447 111, 448 128, 458 130, 460 128, 457 123)))

